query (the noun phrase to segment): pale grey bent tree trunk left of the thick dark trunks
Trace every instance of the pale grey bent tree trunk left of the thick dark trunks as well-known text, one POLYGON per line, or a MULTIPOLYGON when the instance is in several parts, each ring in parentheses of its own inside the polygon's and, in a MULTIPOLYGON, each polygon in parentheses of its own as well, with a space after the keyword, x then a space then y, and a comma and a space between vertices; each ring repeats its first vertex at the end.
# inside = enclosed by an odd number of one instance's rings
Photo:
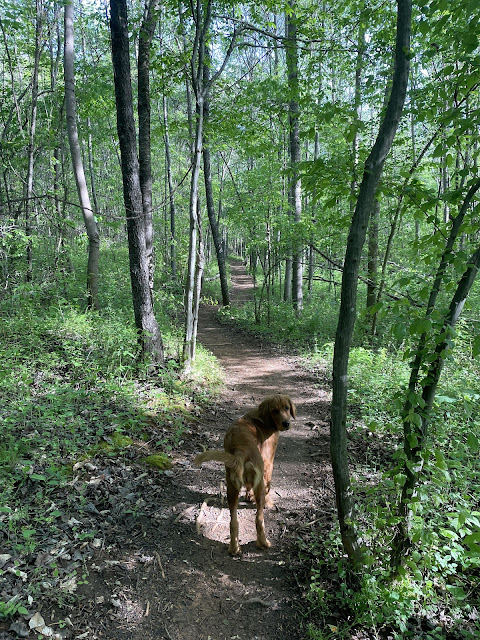
POLYGON ((100 236, 97 223, 90 204, 87 181, 83 170, 82 152, 77 130, 77 107, 75 102, 75 69, 73 48, 73 0, 65 4, 65 42, 64 42, 64 76, 65 76, 65 111, 67 119, 68 141, 72 167, 75 174, 78 199, 82 209, 83 221, 88 236, 87 263, 87 306, 98 309, 98 264, 100 257, 100 236))

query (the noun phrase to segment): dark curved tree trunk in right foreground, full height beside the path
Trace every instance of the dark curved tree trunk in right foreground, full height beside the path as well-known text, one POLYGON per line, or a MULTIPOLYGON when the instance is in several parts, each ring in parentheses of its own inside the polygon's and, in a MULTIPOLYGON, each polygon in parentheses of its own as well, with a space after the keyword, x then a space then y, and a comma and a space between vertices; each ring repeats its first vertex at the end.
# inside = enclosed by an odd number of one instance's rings
POLYGON ((395 67, 392 91, 377 140, 368 156, 347 240, 342 276, 340 312, 333 357, 333 398, 330 455, 344 549, 356 565, 362 561, 354 525, 353 497, 347 450, 348 359, 356 317, 357 284, 362 249, 383 165, 391 148, 405 102, 409 74, 411 0, 398 0, 395 67))

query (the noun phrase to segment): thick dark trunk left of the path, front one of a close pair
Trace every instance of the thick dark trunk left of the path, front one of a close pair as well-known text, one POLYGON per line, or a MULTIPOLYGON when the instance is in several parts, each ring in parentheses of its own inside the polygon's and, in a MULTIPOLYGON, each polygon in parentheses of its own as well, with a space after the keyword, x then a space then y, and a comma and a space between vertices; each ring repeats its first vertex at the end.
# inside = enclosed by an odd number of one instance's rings
POLYGON ((120 142, 123 198, 127 216, 135 325, 142 359, 148 364, 162 365, 164 363, 163 342, 153 310, 145 242, 125 0, 110 0, 110 11, 117 130, 120 142))

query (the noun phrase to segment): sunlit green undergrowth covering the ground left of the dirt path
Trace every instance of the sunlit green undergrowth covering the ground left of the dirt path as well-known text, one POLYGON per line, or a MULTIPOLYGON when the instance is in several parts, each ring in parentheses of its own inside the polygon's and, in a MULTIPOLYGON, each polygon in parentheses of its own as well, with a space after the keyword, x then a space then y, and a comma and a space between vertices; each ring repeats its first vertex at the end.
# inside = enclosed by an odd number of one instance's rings
MULTIPOLYGON (((168 456, 222 383, 200 345, 192 375, 181 377, 181 296, 172 292, 157 300, 166 365, 153 375, 139 368, 124 257, 123 268, 118 255, 110 270, 104 265, 98 312, 85 311, 75 268, 61 286, 44 277, 0 301, 0 580, 5 562, 14 562, 21 582, 26 558, 61 531, 76 465, 105 456, 140 463, 147 443, 168 456)), ((95 537, 71 526, 79 544, 95 537)), ((53 562, 0 602, 0 618, 26 613, 51 591, 45 575, 53 562)), ((49 597, 61 604, 70 596, 59 589, 49 597)))

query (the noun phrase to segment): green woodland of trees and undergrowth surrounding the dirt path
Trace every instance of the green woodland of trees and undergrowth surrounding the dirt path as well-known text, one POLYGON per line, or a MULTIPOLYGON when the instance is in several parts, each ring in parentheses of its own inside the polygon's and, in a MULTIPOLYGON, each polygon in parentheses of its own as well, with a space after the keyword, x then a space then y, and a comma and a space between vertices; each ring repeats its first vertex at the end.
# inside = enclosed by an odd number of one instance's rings
MULTIPOLYGON (((42 483, 41 502, 105 425, 135 422, 107 397, 168 411, 213 393, 195 336, 200 301, 215 300, 225 322, 306 366, 349 360, 344 415, 333 374, 341 536, 299 553, 306 607, 321 618, 348 602, 353 622, 310 637, 355 625, 478 637, 480 9, 420 0, 395 49, 407 9, 0 0, 0 534, 18 553, 37 532, 19 486, 42 483), (401 55, 402 117, 355 262, 364 167, 401 55), (230 255, 255 278, 241 309, 230 255), (357 320, 340 354, 349 286, 357 320), (375 443, 352 469, 347 431, 375 443)), ((24 597, 0 614, 22 613, 24 597)))

